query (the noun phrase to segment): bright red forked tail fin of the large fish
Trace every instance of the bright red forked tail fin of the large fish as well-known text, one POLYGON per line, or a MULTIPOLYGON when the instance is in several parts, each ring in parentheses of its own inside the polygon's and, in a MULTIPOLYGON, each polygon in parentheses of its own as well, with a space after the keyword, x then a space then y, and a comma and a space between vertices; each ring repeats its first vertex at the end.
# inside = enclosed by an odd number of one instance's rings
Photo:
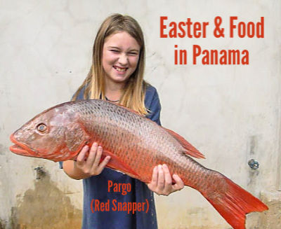
MULTIPOLYGON (((214 171, 215 172, 215 171, 214 171)), ((244 229, 246 214, 252 211, 268 209, 258 198, 244 190, 226 176, 215 172, 213 178, 218 181, 217 188, 202 193, 234 229, 244 229)), ((211 183, 216 183, 211 179, 211 183)), ((214 184, 210 186, 214 187, 214 184)))

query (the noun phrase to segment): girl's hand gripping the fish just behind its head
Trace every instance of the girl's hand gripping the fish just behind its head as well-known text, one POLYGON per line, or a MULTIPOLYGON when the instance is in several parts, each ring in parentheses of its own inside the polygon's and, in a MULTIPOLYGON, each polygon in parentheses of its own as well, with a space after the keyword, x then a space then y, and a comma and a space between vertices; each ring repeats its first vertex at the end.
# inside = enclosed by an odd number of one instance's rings
POLYGON ((89 146, 84 146, 77 156, 77 161, 74 162, 74 169, 78 169, 81 174, 84 174, 84 178, 96 176, 103 172, 107 162, 110 160, 110 156, 107 156, 102 162, 100 162, 103 148, 98 146, 96 142, 91 146, 88 158, 85 160, 85 156, 88 151, 89 146))

